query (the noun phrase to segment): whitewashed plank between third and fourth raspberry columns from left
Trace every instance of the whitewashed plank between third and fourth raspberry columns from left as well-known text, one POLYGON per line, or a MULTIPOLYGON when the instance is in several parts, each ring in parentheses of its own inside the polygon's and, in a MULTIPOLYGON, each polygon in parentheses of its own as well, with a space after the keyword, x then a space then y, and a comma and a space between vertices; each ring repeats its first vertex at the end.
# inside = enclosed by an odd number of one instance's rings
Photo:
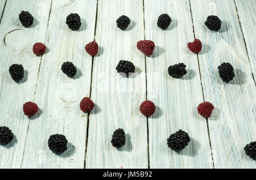
POLYGON ((146 40, 155 42, 151 57, 146 57, 147 98, 158 108, 148 118, 150 168, 213 168, 207 122, 196 107, 203 102, 197 55, 187 43, 194 40, 188 1, 144 1, 146 40), (172 18, 163 31, 156 23, 160 14, 172 18), (174 79, 168 67, 183 62, 187 75, 174 79), (168 148, 167 138, 182 129, 191 142, 176 153, 168 148))

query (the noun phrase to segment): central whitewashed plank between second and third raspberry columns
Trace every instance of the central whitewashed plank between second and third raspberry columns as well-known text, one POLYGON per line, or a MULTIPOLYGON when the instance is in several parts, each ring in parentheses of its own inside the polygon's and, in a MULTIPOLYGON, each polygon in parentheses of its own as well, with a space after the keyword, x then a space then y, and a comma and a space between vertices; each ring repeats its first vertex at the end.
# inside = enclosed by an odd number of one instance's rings
POLYGON ((139 112, 146 99, 145 65, 136 48, 144 37, 143 1, 98 1, 97 17, 96 41, 101 54, 93 65, 96 112, 89 115, 85 168, 147 168, 147 120, 139 112), (126 31, 115 23, 121 15, 131 19, 126 31), (117 73, 115 67, 121 59, 134 63, 135 77, 123 78, 117 73), (117 128, 126 133, 126 145, 121 149, 110 142, 117 128))

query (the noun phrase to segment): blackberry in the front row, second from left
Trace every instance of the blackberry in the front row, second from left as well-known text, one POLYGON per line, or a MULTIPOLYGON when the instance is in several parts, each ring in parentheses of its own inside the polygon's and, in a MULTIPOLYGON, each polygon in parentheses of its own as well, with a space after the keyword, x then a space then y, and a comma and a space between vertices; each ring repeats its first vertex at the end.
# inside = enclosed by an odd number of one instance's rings
POLYGON ((53 134, 48 139, 49 149, 57 154, 61 154, 68 149, 68 140, 62 134, 53 134))

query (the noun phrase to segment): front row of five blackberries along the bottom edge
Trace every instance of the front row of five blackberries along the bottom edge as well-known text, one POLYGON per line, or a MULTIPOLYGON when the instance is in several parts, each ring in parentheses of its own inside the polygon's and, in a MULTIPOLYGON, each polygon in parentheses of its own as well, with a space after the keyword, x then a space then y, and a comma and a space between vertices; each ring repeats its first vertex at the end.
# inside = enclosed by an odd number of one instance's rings
MULTIPOLYGON (((11 142, 11 140, 13 140, 13 138, 14 134, 8 127, 0 127, 0 144, 8 144, 11 142)), ((170 137, 167 139, 167 145, 174 151, 180 151, 188 145, 190 140, 191 139, 189 138, 187 132, 179 130, 170 135, 170 137)), ((121 148, 123 145, 125 145, 125 142, 125 131, 122 128, 118 128, 113 132, 111 143, 115 148, 121 148)), ((68 149, 67 144, 68 140, 64 135, 53 134, 49 136, 48 147, 56 154, 65 152, 68 149)), ((254 159, 256 158, 256 142, 246 144, 244 149, 247 156, 254 159)))

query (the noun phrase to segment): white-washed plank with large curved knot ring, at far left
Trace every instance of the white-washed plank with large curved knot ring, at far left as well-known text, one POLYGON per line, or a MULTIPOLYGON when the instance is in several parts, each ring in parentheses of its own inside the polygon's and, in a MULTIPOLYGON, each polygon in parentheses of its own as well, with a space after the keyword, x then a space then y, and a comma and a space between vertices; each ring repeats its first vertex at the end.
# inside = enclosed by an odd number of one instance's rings
MULTIPOLYGON (((23 115, 22 106, 26 101, 34 100, 36 76, 40 64, 40 57, 32 52, 35 42, 44 42, 51 1, 7 1, 5 12, 0 24, 0 106, 1 126, 9 127, 14 140, 7 145, 0 146, 0 168, 19 168, 23 158, 27 130, 30 123, 23 115), (40 4, 44 5, 41 12, 40 4), (19 13, 29 11, 34 16, 34 24, 30 28, 22 27, 19 13), (9 74, 9 67, 22 64, 25 76, 19 83, 15 83, 9 74)), ((30 139, 32 140, 32 139, 30 139)))

